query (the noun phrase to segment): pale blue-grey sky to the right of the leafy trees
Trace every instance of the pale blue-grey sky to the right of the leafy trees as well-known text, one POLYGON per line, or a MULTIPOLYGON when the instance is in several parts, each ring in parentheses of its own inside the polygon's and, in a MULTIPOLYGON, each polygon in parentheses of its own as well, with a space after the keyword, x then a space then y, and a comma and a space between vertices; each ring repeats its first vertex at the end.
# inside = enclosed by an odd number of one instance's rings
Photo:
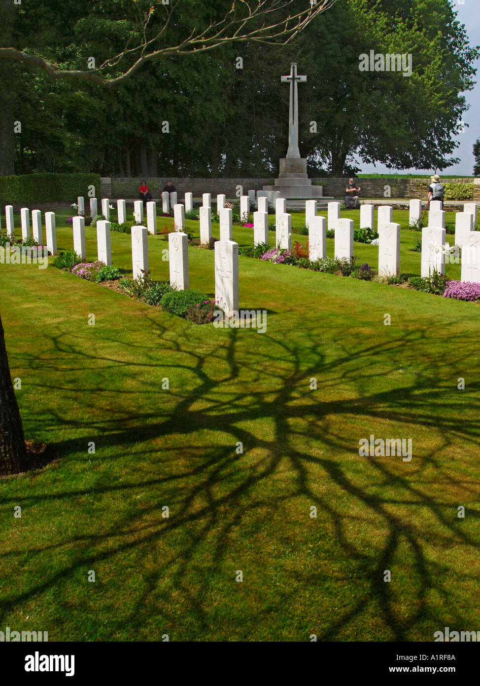
MULTIPOLYGON (((453 5, 455 5, 455 10, 457 11, 458 21, 466 27, 470 45, 480 45, 480 0, 453 0, 453 5), (459 2, 462 2, 462 4, 459 4, 459 2)), ((462 174, 472 176, 473 174, 474 157, 472 147, 477 138, 480 138, 480 60, 475 62, 475 67, 478 69, 475 76, 477 84, 473 91, 464 93, 470 109, 464 113, 462 121, 469 126, 465 127, 463 133, 455 136, 460 146, 455 149, 453 156, 459 157, 460 162, 453 167, 444 169, 441 172, 442 176, 448 177, 449 174, 452 176, 462 174)), ((359 167, 362 167, 362 174, 394 174, 395 172, 394 169, 388 169, 385 165, 378 163, 376 165, 366 165, 362 161, 358 161, 357 164, 359 167)), ((422 174, 424 171, 428 176, 434 173, 431 169, 403 169, 400 173, 422 174)))

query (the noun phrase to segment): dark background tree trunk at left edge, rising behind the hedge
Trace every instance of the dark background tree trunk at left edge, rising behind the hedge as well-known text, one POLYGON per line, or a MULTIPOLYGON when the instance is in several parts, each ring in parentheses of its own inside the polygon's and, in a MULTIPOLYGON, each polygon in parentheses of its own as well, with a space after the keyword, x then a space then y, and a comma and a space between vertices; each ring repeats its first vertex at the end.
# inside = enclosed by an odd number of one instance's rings
MULTIPOLYGON (((0 2, 0 45, 12 45, 14 5, 9 0, 0 2)), ((14 141, 14 66, 10 60, 0 60, 0 176, 15 174, 14 141)))

